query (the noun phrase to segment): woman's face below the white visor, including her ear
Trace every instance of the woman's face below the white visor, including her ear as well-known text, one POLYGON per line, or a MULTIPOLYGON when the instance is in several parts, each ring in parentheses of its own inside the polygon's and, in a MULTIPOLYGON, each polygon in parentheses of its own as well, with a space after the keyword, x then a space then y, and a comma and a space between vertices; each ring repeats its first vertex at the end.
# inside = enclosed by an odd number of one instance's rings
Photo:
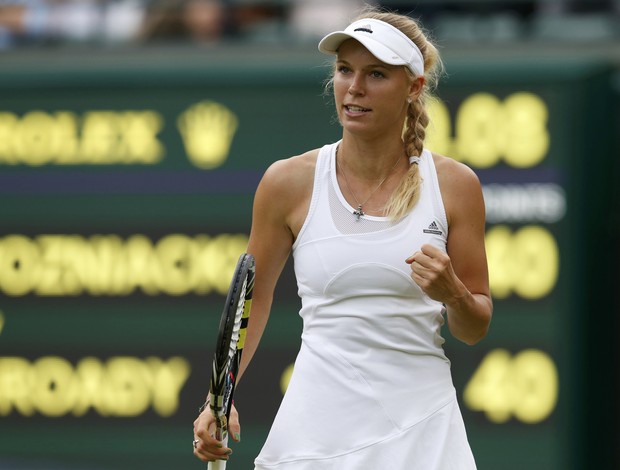
POLYGON ((338 48, 334 98, 345 131, 366 137, 400 137, 407 115, 407 99, 415 99, 423 79, 411 80, 403 66, 388 65, 354 39, 338 48))

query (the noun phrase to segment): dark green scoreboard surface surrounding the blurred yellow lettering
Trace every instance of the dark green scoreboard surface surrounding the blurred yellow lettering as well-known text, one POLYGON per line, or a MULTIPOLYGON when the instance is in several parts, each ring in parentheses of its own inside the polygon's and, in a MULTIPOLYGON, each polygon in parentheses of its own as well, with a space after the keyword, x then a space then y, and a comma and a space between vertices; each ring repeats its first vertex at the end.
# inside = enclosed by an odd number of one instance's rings
MULTIPOLYGON (((617 72, 601 59, 543 54, 448 53, 446 65, 439 95, 452 118, 476 92, 503 99, 530 91, 550 112, 545 160, 528 170, 503 164, 477 169, 481 182, 551 178, 567 194, 566 216, 546 226, 560 247, 560 277, 550 295, 496 301, 491 332, 475 347, 446 332, 459 396, 496 348, 543 350, 560 373, 558 406, 542 423, 492 424, 461 403, 479 469, 613 468, 617 72)), ((154 166, 0 166, 0 236, 141 233, 156 241, 171 233, 247 234, 253 192, 267 166, 339 137, 323 95, 328 67, 314 51, 78 51, 53 62, 32 53, 8 55, 0 66, 1 111, 153 109, 165 117, 159 137, 167 149, 154 166), (202 100, 221 103, 239 118, 229 158, 214 170, 189 162, 175 124, 202 100)), ((94 413, 79 419, 15 413, 0 418, 0 468, 202 468, 191 454, 192 421, 207 391, 222 301, 215 294, 0 297, 0 356, 58 355, 75 363, 89 355, 180 355, 192 366, 181 406, 170 418, 150 411, 135 419, 94 413)), ((281 398, 280 374, 299 344, 298 305, 289 264, 261 349, 238 390, 242 444, 234 447, 231 470, 252 468, 266 437, 281 398)))

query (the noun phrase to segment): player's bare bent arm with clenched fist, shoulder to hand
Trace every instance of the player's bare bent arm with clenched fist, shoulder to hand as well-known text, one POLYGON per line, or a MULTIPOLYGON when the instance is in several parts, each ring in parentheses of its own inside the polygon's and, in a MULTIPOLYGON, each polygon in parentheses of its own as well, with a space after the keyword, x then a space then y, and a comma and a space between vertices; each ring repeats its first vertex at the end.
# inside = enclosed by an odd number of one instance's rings
POLYGON ((445 157, 436 160, 448 217, 447 255, 423 245, 408 260, 412 278, 448 310, 450 332, 467 344, 486 336, 493 304, 484 247, 484 200, 480 182, 466 166, 445 157))

